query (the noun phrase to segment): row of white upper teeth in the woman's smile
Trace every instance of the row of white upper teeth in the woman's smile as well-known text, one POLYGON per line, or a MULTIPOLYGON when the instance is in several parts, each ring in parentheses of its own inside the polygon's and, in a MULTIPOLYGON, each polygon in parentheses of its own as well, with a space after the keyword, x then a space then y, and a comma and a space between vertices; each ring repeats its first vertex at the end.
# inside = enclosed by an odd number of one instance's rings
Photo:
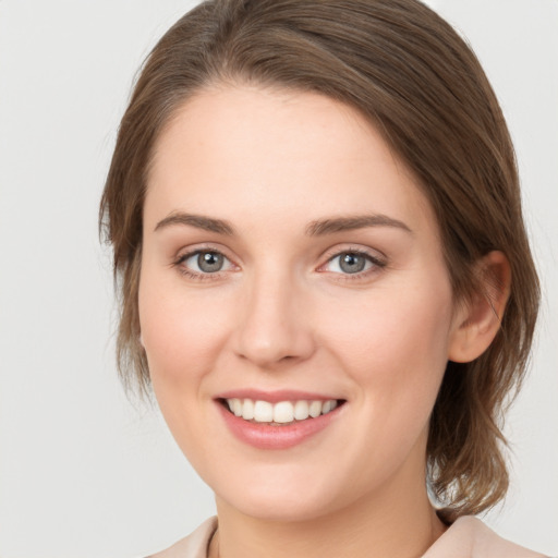
POLYGON ((291 423, 304 421, 308 416, 315 418, 320 414, 327 414, 337 407, 336 399, 327 401, 254 401, 252 399, 227 399, 227 404, 236 416, 256 423, 291 423))

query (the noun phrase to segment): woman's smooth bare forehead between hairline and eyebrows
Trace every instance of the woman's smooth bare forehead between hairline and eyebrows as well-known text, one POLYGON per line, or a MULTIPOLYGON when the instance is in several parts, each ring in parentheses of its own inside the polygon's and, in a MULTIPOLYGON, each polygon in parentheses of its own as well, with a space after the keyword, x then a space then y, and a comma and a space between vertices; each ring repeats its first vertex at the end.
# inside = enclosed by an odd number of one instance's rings
POLYGON ((355 109, 248 86, 198 93, 161 132, 145 219, 173 210, 293 225, 363 211, 415 227, 434 219, 412 174, 355 109))

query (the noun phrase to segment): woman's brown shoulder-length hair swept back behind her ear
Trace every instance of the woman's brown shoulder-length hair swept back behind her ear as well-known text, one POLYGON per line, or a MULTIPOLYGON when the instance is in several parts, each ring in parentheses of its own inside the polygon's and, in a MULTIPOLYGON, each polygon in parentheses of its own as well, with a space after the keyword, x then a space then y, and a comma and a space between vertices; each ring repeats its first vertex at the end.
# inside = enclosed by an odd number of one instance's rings
POLYGON ((501 328, 475 361, 448 363, 427 447, 429 487, 448 517, 494 506, 508 487, 501 414, 524 375, 538 282, 498 101, 471 49, 417 0, 207 1, 160 39, 122 119, 100 206, 121 299, 122 376, 149 383, 137 288, 154 143, 187 98, 223 82, 318 92, 368 118, 435 210, 456 298, 478 291, 480 257, 508 257, 501 328))

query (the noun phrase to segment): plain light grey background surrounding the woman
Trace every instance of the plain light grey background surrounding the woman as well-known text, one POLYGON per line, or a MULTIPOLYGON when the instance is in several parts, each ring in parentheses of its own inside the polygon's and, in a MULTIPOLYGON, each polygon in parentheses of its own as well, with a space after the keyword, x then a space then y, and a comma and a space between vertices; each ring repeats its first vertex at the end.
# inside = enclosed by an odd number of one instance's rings
MULTIPOLYGON (((133 76, 187 0, 0 0, 0 556, 145 556, 214 512, 113 364, 97 206, 133 76)), ((430 0, 515 141, 545 302, 509 414, 512 487, 485 520, 558 554, 558 1, 430 0)))

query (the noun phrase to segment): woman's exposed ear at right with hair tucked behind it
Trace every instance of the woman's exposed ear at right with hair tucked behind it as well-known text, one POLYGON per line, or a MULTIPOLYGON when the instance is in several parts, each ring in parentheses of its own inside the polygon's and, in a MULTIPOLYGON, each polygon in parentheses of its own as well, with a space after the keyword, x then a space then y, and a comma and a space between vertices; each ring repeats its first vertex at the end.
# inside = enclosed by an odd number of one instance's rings
POLYGON ((471 362, 490 345, 500 328, 510 294, 511 270, 508 258, 489 252, 476 264, 480 291, 456 311, 448 347, 448 360, 471 362))

